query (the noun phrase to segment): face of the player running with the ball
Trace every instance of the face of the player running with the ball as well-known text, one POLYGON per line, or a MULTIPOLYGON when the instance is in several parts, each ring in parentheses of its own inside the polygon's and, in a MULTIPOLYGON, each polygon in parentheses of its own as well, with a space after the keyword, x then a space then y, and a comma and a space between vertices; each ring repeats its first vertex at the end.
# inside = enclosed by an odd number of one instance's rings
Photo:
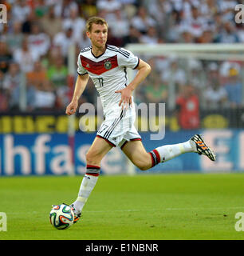
POLYGON ((87 32, 87 36, 92 42, 92 46, 104 48, 108 38, 108 28, 106 25, 92 24, 92 30, 87 32))

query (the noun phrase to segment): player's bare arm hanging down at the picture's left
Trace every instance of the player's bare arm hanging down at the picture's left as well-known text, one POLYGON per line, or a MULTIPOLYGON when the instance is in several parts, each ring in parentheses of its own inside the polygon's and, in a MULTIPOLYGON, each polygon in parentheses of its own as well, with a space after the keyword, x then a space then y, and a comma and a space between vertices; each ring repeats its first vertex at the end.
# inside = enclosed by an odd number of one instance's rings
POLYGON ((71 115, 76 113, 78 100, 81 97, 81 94, 83 93, 83 91, 85 90, 85 86, 87 85, 88 81, 89 81, 89 74, 78 75, 75 90, 73 92, 72 101, 66 107, 66 112, 65 112, 66 114, 71 115))

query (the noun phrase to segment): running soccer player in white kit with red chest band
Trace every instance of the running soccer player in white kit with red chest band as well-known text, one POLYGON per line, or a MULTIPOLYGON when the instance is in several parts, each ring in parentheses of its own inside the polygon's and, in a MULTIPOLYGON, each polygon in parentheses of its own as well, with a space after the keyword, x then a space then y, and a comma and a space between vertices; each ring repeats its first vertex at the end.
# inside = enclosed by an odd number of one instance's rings
POLYGON ((148 170, 159 162, 166 162, 187 152, 204 154, 212 161, 215 160, 214 153, 199 134, 187 142, 159 146, 147 152, 134 126, 136 111, 132 92, 148 76, 151 67, 132 52, 106 44, 108 24, 103 18, 89 18, 86 23, 86 34, 92 46, 81 50, 78 56, 78 77, 73 99, 66 108, 66 114, 75 114, 78 99, 90 77, 100 94, 104 122, 86 154, 86 173, 77 200, 70 205, 75 214, 74 222, 81 217, 82 208, 96 185, 102 158, 113 146, 120 146, 124 154, 140 170, 148 170), (127 78, 128 68, 138 70, 130 83, 127 78))

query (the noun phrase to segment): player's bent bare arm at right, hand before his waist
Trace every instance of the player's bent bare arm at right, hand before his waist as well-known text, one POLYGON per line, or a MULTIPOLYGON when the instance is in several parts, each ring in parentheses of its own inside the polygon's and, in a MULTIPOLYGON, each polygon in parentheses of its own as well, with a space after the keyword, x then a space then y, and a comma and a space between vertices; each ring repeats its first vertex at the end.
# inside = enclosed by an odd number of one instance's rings
POLYGON ((138 70, 138 72, 136 74, 136 77, 132 80, 132 82, 130 82, 128 86, 126 86, 124 89, 116 90, 116 94, 121 94, 119 106, 121 106, 122 103, 125 105, 132 103, 133 90, 135 90, 136 87, 139 86, 139 84, 143 82, 145 78, 147 78, 152 68, 147 62, 144 62, 140 59, 139 65, 136 67, 136 70, 138 70))

